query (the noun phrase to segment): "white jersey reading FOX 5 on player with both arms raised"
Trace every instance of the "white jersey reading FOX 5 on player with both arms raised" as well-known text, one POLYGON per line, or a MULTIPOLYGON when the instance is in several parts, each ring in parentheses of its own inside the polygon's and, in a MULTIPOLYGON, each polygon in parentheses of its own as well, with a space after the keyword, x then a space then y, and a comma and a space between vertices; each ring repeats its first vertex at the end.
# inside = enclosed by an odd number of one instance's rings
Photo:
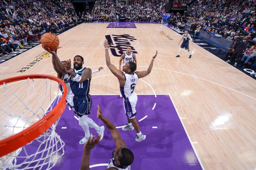
POLYGON ((139 80, 138 75, 136 73, 127 74, 124 73, 125 78, 125 84, 124 87, 120 86, 121 94, 124 98, 136 95, 135 88, 137 85, 137 82, 139 80))

